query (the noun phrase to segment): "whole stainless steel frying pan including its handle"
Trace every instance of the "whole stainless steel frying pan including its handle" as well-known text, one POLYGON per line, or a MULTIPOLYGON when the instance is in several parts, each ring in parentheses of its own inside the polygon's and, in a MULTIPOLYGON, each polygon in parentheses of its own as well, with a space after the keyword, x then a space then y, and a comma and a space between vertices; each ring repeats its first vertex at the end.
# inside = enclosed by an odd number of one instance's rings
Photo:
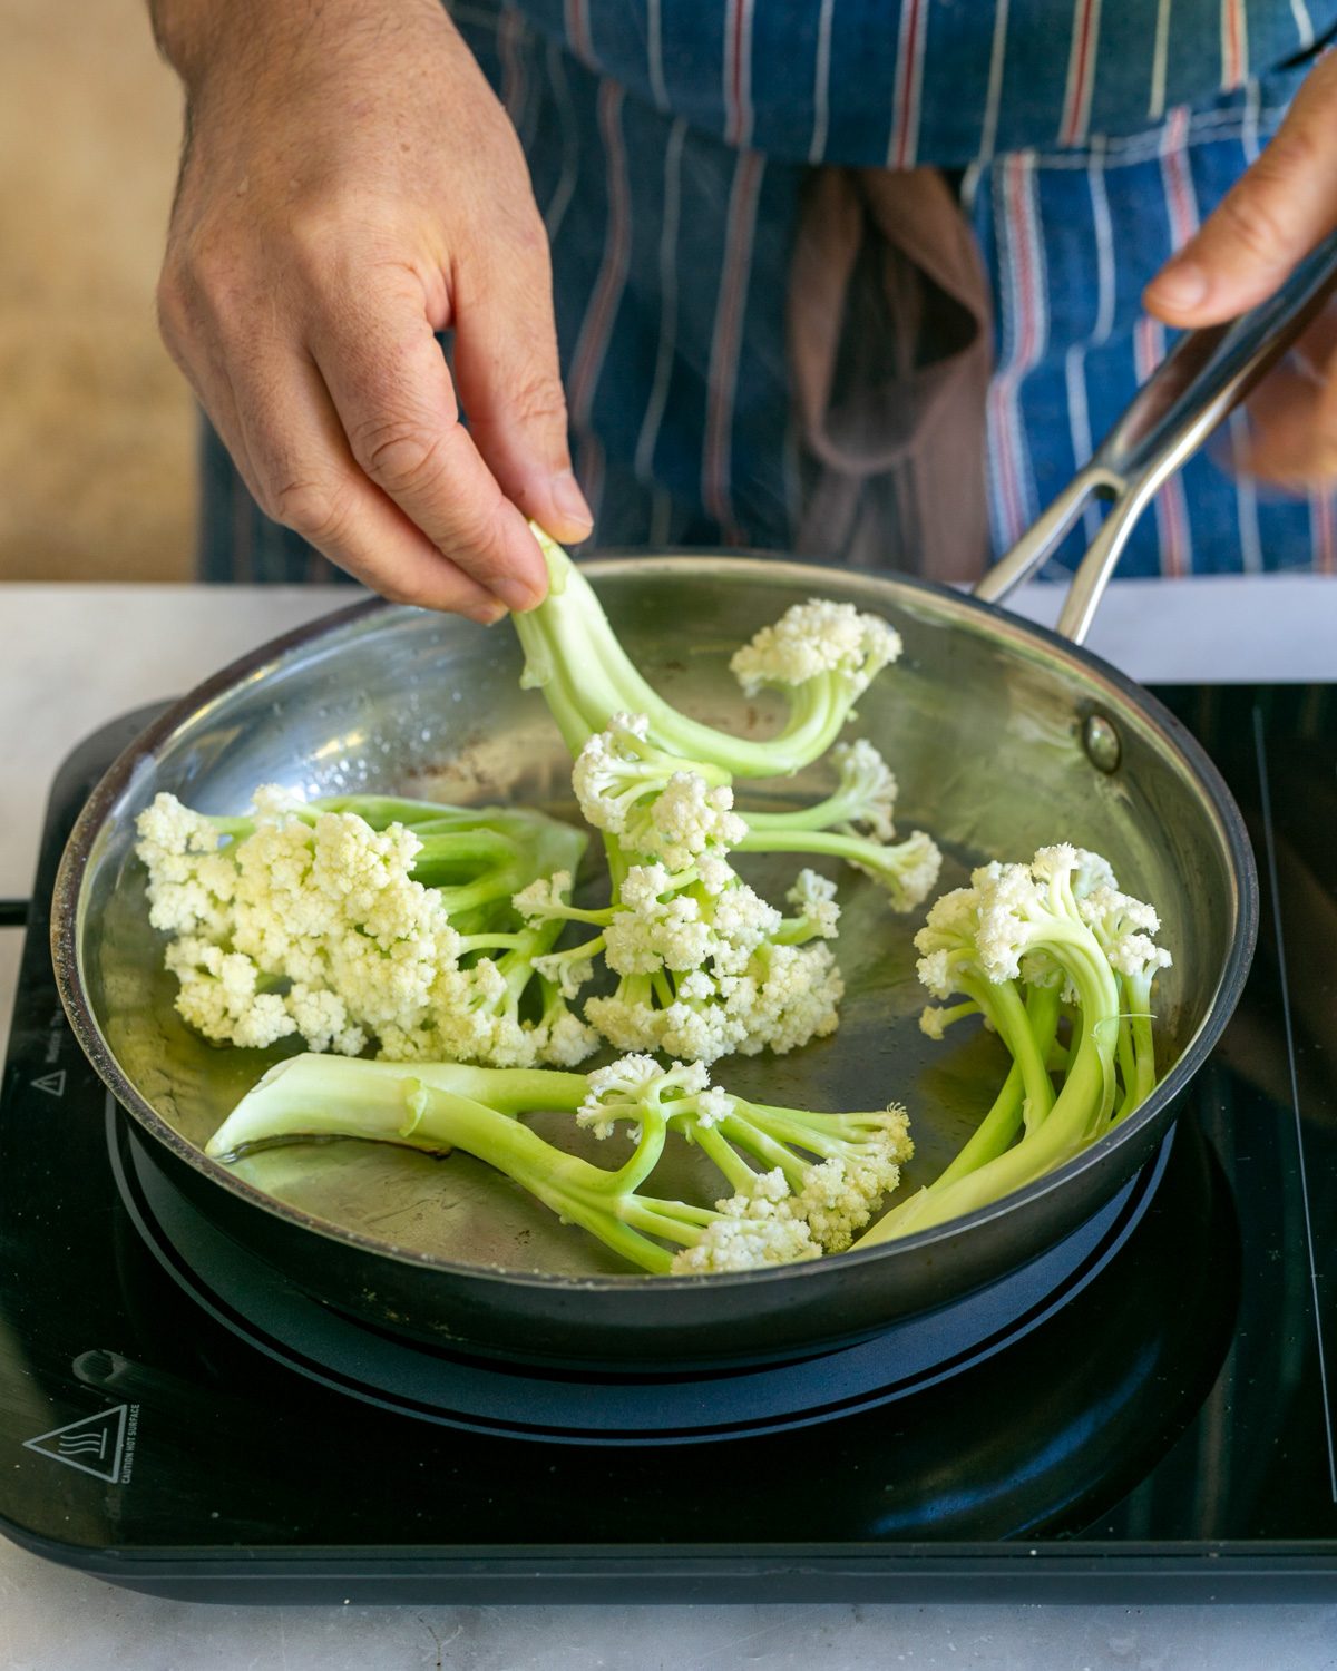
MULTIPOLYGON (((1257 889, 1238 812, 1210 760, 1155 700, 1078 643, 1136 513, 1310 317, 1334 269, 1337 241, 1282 297, 1187 338, 976 598, 714 553, 587 568, 648 678, 740 732, 760 734, 772 720, 764 703, 744 702, 727 672, 729 653, 757 627, 812 593, 886 615, 906 653, 861 703, 857 730, 901 780, 901 825, 933 830, 948 851, 943 886, 983 857, 1029 857, 1045 842, 1071 841, 1103 852, 1125 887, 1157 902, 1175 956, 1158 989, 1163 1079, 1110 1136, 956 1223, 839 1258, 710 1278, 627 1275, 582 1232, 463 1155, 436 1161, 331 1143, 237 1166, 207 1160, 206 1140, 272 1056, 211 1048, 172 1009, 174 983, 147 926, 132 851, 134 817, 152 795, 170 790, 224 812, 257 784, 281 782, 573 812, 570 759, 541 695, 518 687, 513 637, 364 603, 257 650, 157 720, 90 797, 62 864, 53 904, 62 999, 175 1185, 311 1293, 379 1327, 476 1354, 620 1369, 742 1362, 857 1338, 988 1285, 1083 1223, 1155 1153, 1178 1093, 1230 1016, 1252 954, 1257 889), (1066 637, 991 607, 986 600, 1043 560, 1090 491, 1115 503, 1070 593, 1066 637)), ((814 767, 782 792, 806 799, 822 785, 814 767)), ((747 874, 765 891, 792 869, 792 859, 777 859, 747 874)), ((791 1056, 720 1063, 715 1078, 770 1103, 904 1101, 918 1145, 914 1186, 959 1148, 1004 1064, 984 1034, 923 1038, 911 947, 919 917, 892 916, 864 879, 846 876, 841 886, 839 1033, 791 1056)))

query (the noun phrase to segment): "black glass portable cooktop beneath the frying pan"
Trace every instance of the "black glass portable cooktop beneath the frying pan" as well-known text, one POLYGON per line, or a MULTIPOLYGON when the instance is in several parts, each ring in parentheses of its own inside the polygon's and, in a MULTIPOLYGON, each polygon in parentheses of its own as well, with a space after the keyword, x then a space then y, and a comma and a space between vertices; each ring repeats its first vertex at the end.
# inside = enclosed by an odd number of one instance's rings
POLYGON ((69 1033, 52 797, 0 1095, 0 1529, 231 1601, 1337 1592, 1337 690, 1162 697, 1225 772, 1263 931, 1157 1161, 983 1297, 804 1364, 446 1359, 197 1220, 69 1033))

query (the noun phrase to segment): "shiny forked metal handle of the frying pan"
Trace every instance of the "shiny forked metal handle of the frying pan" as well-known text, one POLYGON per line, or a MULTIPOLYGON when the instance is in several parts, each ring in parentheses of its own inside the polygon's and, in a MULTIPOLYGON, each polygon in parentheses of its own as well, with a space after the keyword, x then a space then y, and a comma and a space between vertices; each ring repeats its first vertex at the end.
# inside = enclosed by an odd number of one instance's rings
POLYGON ((984 575, 974 595, 999 603, 1029 580, 1093 496, 1108 500, 1068 588, 1058 632, 1081 643, 1138 516, 1295 338, 1322 312, 1337 279, 1330 234, 1265 302, 1227 324, 1185 333, 1133 396, 1085 470, 984 575))

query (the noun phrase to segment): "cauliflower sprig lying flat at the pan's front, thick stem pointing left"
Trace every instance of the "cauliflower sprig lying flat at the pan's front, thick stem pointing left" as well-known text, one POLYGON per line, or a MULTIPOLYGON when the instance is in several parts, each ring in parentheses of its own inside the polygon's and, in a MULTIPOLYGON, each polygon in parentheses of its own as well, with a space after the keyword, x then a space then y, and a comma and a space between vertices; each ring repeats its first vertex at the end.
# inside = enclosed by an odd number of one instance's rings
POLYGON ((207 1153, 234 1160, 256 1145, 311 1138, 403 1143, 438 1155, 461 1150, 655 1275, 749 1270, 839 1252, 896 1188, 899 1163, 911 1153, 899 1108, 861 1115, 767 1108, 712 1088, 697 1063, 663 1068, 648 1056, 625 1056, 580 1074, 311 1054, 271 1068, 207 1153), (617 1168, 570 1155, 520 1118, 540 1110, 572 1115, 597 1138, 627 1126, 632 1153, 617 1168), (729 1195, 695 1205, 645 1193, 670 1133, 700 1148, 729 1195))

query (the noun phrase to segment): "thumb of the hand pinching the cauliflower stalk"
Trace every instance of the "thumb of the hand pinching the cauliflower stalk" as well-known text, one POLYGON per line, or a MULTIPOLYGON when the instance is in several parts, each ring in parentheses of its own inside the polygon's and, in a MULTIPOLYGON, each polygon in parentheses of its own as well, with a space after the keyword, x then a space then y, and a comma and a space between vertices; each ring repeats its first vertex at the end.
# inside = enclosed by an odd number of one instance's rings
MULTIPOLYGON (((541 229, 540 234, 541 237, 541 229)), ((506 498, 555 540, 593 528, 572 471, 546 241, 490 264, 458 297, 455 378, 478 451, 506 498)))

